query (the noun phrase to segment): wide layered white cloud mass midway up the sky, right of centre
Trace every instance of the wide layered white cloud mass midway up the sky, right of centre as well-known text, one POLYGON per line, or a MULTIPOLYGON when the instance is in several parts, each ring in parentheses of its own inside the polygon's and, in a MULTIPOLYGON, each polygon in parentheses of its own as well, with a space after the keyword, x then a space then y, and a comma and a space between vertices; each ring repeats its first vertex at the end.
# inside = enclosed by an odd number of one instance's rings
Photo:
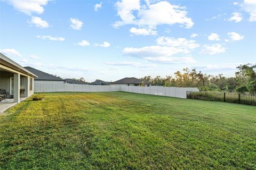
POLYGON ((159 37, 156 39, 157 45, 140 48, 126 47, 123 54, 127 56, 142 58, 149 62, 161 64, 194 63, 190 56, 190 50, 199 47, 195 40, 186 38, 159 37), (173 55, 179 55, 173 57, 173 55), (187 56, 184 56, 187 55, 187 56))

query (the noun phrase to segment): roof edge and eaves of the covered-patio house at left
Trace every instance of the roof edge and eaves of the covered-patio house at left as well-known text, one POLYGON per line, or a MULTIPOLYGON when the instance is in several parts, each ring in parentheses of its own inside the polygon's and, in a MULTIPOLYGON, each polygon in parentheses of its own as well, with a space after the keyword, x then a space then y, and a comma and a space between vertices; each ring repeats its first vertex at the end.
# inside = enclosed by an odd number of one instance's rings
POLYGON ((0 53, 0 63, 6 67, 13 69, 13 70, 19 71, 23 74, 27 74, 33 78, 37 78, 37 76, 34 73, 31 73, 29 70, 25 69, 18 63, 15 63, 14 61, 12 61, 10 58, 6 57, 2 53, 0 53))

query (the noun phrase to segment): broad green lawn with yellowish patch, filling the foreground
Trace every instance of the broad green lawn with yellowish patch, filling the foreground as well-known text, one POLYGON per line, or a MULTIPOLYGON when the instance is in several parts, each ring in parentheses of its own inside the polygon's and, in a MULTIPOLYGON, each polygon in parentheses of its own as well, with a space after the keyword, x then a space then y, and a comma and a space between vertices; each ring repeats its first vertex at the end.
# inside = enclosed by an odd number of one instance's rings
POLYGON ((49 93, 0 115, 0 169, 256 169, 256 107, 49 93))

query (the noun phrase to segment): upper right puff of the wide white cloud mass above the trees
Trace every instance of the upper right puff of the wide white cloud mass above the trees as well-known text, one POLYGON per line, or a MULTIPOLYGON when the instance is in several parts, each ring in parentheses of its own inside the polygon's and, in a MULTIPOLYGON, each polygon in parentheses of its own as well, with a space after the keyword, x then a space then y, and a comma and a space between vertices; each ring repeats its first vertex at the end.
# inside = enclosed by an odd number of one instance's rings
POLYGON ((186 38, 159 37, 156 39, 158 45, 177 47, 181 49, 194 49, 199 47, 195 40, 187 40, 186 38))

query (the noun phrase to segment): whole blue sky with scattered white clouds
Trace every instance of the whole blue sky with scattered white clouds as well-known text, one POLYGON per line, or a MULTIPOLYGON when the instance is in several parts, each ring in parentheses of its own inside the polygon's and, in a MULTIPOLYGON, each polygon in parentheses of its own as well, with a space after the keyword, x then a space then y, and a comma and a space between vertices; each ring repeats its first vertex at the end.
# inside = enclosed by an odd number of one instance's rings
POLYGON ((256 63, 256 0, 0 0, 0 52, 61 78, 116 81, 256 63))

